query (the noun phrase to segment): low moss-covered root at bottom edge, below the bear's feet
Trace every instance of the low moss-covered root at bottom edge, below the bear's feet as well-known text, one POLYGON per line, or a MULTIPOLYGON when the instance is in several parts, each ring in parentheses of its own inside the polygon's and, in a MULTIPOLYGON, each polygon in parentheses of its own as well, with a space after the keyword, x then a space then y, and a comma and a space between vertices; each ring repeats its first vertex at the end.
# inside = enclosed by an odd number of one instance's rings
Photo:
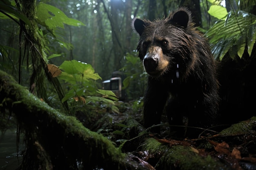
POLYGON ((154 138, 146 140, 143 150, 148 152, 155 169, 164 170, 227 170, 224 164, 210 155, 201 156, 192 146, 162 144, 154 138), (156 160, 154 160, 156 159, 156 160))

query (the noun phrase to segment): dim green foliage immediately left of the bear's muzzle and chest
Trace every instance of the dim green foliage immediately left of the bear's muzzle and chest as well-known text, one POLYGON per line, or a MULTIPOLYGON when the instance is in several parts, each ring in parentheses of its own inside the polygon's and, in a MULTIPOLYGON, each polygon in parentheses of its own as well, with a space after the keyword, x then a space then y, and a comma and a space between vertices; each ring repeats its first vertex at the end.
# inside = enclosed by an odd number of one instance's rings
POLYGON ((126 89, 129 99, 137 99, 144 94, 147 74, 144 72, 143 66, 141 66, 137 53, 127 53, 125 59, 126 63, 120 69, 126 75, 123 89, 126 89))

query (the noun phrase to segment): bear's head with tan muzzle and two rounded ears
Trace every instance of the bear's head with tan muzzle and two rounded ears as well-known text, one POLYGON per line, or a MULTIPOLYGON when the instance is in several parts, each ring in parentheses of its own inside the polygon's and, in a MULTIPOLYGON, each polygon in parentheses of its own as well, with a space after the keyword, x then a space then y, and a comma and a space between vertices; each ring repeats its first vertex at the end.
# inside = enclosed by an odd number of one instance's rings
MULTIPOLYGON (((190 49, 193 23, 191 12, 182 7, 162 20, 132 20, 132 28, 140 36, 137 51, 145 71, 153 77, 165 73, 186 72, 192 62, 190 49)), ((178 77, 177 77, 178 78, 178 77)))

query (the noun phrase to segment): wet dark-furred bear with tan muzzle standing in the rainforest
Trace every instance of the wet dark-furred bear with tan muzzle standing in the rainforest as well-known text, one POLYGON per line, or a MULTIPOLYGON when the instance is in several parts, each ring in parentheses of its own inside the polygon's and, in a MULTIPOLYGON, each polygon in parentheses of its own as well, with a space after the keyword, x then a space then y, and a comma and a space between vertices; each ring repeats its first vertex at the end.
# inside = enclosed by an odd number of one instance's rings
POLYGON ((151 132, 160 132, 156 125, 163 113, 170 131, 179 137, 194 137, 197 127, 216 124, 216 61, 191 18, 191 11, 180 7, 161 20, 132 20, 132 29, 139 35, 137 52, 148 74, 143 120, 151 132))

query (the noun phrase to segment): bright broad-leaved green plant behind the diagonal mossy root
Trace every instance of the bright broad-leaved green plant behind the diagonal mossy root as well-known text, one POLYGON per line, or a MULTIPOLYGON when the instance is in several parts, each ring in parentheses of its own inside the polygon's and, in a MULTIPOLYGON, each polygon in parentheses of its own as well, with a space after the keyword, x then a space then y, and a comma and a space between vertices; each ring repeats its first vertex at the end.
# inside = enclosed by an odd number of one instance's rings
POLYGON ((95 107, 92 109, 94 110, 106 106, 113 111, 118 111, 113 102, 117 101, 117 97, 112 91, 97 88, 95 81, 101 79, 101 77, 98 73, 94 73, 94 69, 90 64, 76 60, 64 61, 60 69, 63 72, 58 78, 65 82, 67 90, 61 102, 68 101, 72 103, 73 114, 77 110, 84 110, 83 106, 86 106, 86 104, 93 104, 95 107))

